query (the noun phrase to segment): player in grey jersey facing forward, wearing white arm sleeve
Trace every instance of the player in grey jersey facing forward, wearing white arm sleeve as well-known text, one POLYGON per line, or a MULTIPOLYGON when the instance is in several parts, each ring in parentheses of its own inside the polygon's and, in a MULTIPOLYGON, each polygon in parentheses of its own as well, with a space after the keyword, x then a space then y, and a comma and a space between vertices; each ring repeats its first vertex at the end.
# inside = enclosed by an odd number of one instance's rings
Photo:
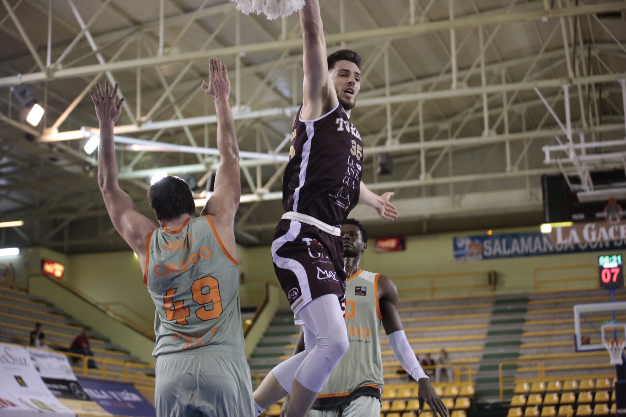
MULTIPOLYGON (((434 392, 430 379, 409 346, 398 314, 398 289, 391 279, 361 269, 367 249, 367 231, 356 219, 341 226, 346 286, 346 328, 350 347, 317 396, 309 417, 362 417, 381 413, 381 324, 389 346, 403 368, 418 381, 419 412, 426 402, 434 417, 448 416, 448 409, 434 392)), ((294 354, 304 350, 304 332, 294 354)), ((285 398, 289 403, 289 398, 285 398)), ((283 406, 283 410, 286 406, 283 406)))

